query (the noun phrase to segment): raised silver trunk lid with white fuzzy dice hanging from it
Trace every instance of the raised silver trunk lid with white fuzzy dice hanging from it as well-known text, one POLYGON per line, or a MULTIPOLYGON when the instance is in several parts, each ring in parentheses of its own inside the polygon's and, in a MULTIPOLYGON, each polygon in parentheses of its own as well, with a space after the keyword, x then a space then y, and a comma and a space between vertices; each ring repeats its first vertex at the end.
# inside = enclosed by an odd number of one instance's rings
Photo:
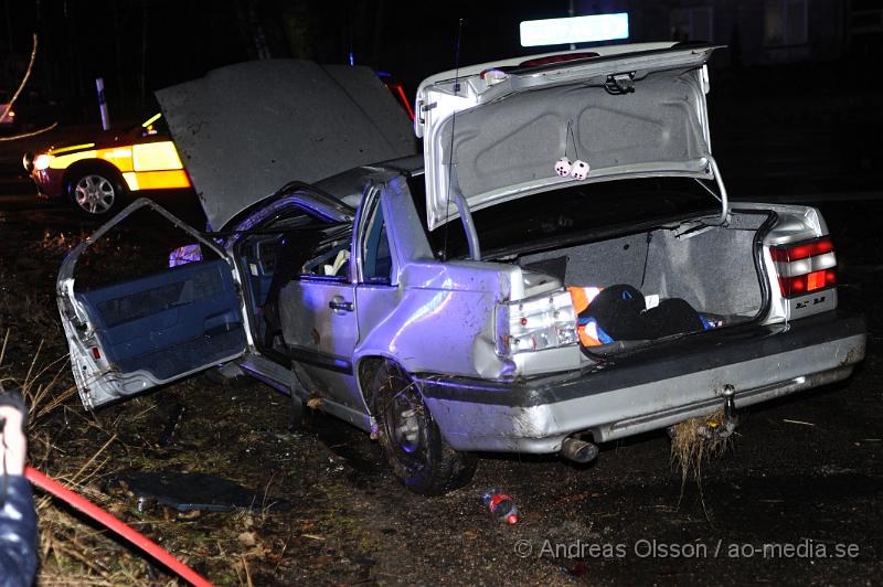
POLYGON ((457 216, 460 195, 480 210, 578 181, 555 173, 565 154, 589 164, 589 182, 715 179, 705 105, 714 49, 605 46, 574 61, 525 66, 521 57, 427 78, 415 131, 424 138, 429 228, 457 216))

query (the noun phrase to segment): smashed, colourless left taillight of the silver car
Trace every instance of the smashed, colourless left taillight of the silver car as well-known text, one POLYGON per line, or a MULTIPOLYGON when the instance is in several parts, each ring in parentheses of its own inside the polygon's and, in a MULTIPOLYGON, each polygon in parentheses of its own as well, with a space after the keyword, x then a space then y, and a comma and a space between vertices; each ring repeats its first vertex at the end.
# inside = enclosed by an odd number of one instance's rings
POLYGON ((497 353, 542 351, 576 344, 576 312, 562 288, 540 296, 497 305, 497 353))

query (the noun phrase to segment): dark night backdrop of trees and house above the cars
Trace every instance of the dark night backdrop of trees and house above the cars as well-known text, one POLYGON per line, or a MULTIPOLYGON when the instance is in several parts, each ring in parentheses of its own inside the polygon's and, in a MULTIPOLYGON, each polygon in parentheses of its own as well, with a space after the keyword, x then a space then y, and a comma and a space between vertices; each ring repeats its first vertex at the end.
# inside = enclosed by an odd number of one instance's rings
MULTIPOLYGON (((735 88, 855 93, 879 88, 883 3, 873 0, 2 0, 0 87, 14 87, 31 33, 41 47, 31 87, 97 117, 96 77, 111 113, 140 116, 152 90, 253 58, 352 60, 392 73, 413 93, 423 77, 453 68, 464 20, 461 64, 567 49, 524 49, 522 20, 628 12, 630 42, 702 40, 726 44, 715 77, 735 88)), ((620 41, 621 42, 621 41, 620 41)), ((591 46, 591 45, 581 45, 591 46)))

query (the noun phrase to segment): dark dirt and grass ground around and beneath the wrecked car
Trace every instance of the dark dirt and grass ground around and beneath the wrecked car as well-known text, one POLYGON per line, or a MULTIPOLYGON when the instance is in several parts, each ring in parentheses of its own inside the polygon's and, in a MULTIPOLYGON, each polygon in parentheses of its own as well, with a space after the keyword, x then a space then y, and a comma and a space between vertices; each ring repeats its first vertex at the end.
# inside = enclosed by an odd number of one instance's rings
MULTIPOLYGON (((87 413, 73 391, 54 300, 58 264, 94 227, 64 207, 0 196, 0 376, 32 399, 32 463, 113 511, 220 585, 859 584, 883 554, 883 277, 873 218, 883 202, 821 204, 838 245, 841 306, 870 317, 865 363, 845 384, 753 410, 734 447, 704 467, 702 491, 669 463, 664 434, 602 447, 581 467, 556 457, 482 455, 443 498, 405 490, 369 437, 319 413, 292 427, 290 401, 259 383, 205 376, 87 413), (171 442, 159 438, 183 407, 171 442), (139 512, 111 473, 214 473, 287 512, 139 512), (503 526, 481 494, 521 510, 503 526), (764 545, 767 546, 766 548, 764 545), (822 552, 823 551, 823 552, 822 552), (823 554, 823 556, 822 556, 823 554)), ((159 231, 134 227, 105 254, 139 259, 159 231), (152 235, 152 236, 151 236, 152 235)), ((99 263, 99 262, 96 262, 99 263)), ((102 269, 100 265, 93 268, 102 269)), ((42 585, 173 578, 38 492, 42 585)))

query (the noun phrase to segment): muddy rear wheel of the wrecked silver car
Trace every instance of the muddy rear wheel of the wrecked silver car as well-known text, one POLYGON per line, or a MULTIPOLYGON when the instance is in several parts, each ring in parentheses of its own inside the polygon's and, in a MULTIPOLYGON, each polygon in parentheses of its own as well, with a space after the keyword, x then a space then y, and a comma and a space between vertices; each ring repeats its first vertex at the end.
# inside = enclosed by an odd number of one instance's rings
POLYGON ((415 493, 440 495, 472 479, 478 460, 442 437, 417 384, 394 363, 371 380, 377 437, 395 476, 415 493))

